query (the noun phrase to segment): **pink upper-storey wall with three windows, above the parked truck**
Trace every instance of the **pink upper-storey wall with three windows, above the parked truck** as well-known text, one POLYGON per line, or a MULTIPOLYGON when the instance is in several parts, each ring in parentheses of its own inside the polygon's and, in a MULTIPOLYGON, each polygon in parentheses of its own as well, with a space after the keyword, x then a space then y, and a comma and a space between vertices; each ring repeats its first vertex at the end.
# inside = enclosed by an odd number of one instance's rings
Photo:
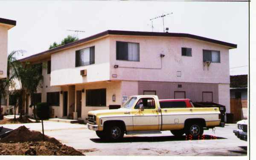
POLYGON ((195 83, 230 83, 229 49, 191 38, 110 36, 111 75, 133 81, 172 81, 195 83), (140 43, 140 61, 116 60, 116 41, 140 43), (181 56, 181 47, 192 48, 192 57, 181 56), (203 67, 203 49, 219 50, 221 63, 203 67), (160 54, 164 54, 162 69, 133 69, 122 67, 161 68, 160 54), (119 68, 113 68, 119 65, 119 68), (177 77, 181 71, 181 77, 177 77))

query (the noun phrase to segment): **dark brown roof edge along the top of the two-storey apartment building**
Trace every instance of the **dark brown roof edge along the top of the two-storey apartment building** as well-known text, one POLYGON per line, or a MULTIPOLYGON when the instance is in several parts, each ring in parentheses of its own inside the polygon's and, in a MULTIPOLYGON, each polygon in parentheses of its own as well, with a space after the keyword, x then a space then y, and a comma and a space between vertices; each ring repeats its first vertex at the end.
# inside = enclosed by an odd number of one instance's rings
POLYGON ((233 48, 237 47, 236 44, 231 44, 231 43, 228 43, 228 42, 218 41, 218 40, 214 40, 214 39, 211 39, 211 38, 201 37, 201 36, 198 36, 198 35, 191 35, 191 34, 187 34, 187 33, 138 32, 138 31, 107 30, 107 31, 98 33, 96 35, 92 35, 90 37, 83 38, 83 39, 80 39, 80 40, 75 41, 75 42, 71 42, 69 44, 65 44, 65 45, 62 45, 62 46, 59 46, 59 47, 56 47, 56 48, 52 48, 52 49, 46 50, 44 52, 37 53, 35 55, 31 55, 31 56, 26 57, 26 58, 22 58, 19 61, 26 61, 26 60, 29 60, 29 59, 32 59, 32 58, 36 58, 38 56, 42 56, 42 58, 44 58, 47 55, 52 54, 53 52, 57 52, 57 51, 60 51, 60 50, 66 49, 66 48, 70 48, 70 47, 73 47, 73 46, 76 46, 76 45, 79 45, 79 44, 83 44, 83 43, 86 43, 88 41, 92 41, 94 39, 104 37, 106 35, 136 35, 136 36, 183 37, 183 38, 192 38, 192 39, 197 39, 197 40, 201 40, 201 41, 207 41, 207 42, 214 43, 214 44, 220 44, 220 45, 223 45, 223 46, 230 47, 229 49, 233 49, 233 48))

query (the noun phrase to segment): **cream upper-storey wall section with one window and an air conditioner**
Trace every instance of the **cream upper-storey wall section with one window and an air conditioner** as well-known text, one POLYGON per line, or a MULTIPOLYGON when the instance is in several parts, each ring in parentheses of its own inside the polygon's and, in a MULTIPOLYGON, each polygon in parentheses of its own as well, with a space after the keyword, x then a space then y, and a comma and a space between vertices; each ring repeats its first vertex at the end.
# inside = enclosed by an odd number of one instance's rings
POLYGON ((51 55, 51 85, 81 84, 109 80, 109 57, 109 38, 102 38, 99 41, 56 52, 51 55), (76 50, 93 46, 95 46, 95 64, 75 67, 76 50), (87 70, 87 76, 80 75, 80 70, 84 69, 87 70))

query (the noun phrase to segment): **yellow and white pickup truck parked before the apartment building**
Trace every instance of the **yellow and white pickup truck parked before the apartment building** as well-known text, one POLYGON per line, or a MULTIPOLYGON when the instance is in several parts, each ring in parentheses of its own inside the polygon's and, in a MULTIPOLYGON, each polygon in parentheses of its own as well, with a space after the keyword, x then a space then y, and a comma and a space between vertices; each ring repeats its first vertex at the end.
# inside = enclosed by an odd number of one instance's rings
POLYGON ((198 137, 204 128, 220 124, 219 108, 170 107, 163 101, 153 95, 131 96, 119 109, 89 111, 87 128, 96 131, 101 139, 118 141, 124 134, 159 134, 167 130, 177 137, 184 133, 198 137))

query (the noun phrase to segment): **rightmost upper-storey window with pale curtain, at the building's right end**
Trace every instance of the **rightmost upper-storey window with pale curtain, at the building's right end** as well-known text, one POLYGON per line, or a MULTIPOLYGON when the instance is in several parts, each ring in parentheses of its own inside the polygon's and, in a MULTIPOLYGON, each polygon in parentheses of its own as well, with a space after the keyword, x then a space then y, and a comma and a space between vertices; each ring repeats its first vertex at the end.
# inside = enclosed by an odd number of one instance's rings
POLYGON ((203 50, 203 61, 221 63, 221 52, 213 50, 203 50))

